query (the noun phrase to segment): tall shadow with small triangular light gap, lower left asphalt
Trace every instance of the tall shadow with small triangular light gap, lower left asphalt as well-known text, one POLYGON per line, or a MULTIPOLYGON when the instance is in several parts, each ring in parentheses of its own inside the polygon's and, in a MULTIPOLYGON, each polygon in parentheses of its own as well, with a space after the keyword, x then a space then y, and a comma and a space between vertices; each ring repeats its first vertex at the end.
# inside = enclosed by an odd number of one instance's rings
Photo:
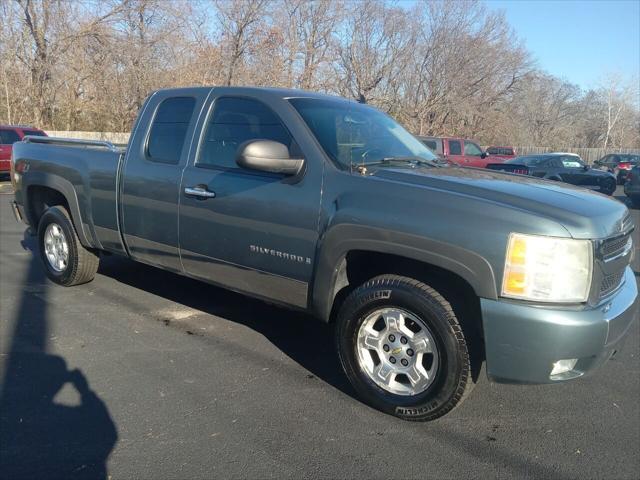
POLYGON ((116 426, 84 374, 47 353, 48 280, 35 243, 27 236, 22 242, 33 256, 0 385, 0 478, 107 478, 116 426), (78 405, 54 401, 67 384, 78 405))

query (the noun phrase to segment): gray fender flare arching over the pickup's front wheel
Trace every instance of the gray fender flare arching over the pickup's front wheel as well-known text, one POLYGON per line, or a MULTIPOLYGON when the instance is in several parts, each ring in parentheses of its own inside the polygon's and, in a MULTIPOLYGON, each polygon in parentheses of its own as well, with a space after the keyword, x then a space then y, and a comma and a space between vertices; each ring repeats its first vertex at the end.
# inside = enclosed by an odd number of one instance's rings
POLYGON ((340 224, 324 235, 317 256, 311 310, 328 321, 342 260, 353 250, 398 255, 440 267, 463 278, 479 297, 496 299, 493 269, 475 252, 429 238, 377 227, 340 224))

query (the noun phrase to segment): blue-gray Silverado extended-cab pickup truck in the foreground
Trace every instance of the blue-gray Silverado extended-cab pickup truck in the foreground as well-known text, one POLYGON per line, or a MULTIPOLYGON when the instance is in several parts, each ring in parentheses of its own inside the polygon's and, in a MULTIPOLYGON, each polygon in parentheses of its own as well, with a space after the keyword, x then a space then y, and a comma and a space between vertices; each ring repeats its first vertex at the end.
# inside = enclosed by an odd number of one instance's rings
POLYGON ((638 316, 623 204, 442 166, 333 96, 157 91, 126 150, 27 137, 12 180, 54 282, 118 254, 335 322, 360 397, 408 420, 453 409, 485 361, 500 382, 581 377, 638 316))

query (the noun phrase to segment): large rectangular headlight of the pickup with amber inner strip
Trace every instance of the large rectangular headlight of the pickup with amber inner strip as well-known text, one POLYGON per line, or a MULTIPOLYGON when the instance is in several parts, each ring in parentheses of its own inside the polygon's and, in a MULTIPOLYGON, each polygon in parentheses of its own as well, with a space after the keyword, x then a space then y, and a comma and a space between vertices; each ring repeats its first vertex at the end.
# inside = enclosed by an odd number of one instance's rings
POLYGON ((584 302, 589 297, 592 271, 589 240, 512 233, 502 296, 538 302, 584 302))

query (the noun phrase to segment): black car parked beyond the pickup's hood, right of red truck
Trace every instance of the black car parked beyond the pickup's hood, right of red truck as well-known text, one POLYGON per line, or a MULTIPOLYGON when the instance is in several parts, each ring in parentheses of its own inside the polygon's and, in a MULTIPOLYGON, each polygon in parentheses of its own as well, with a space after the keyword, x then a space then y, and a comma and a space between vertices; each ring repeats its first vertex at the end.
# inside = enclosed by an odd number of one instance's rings
POLYGON ((612 173, 589 168, 575 153, 526 155, 504 163, 490 163, 487 168, 571 183, 606 195, 616 190, 616 177, 612 173))

